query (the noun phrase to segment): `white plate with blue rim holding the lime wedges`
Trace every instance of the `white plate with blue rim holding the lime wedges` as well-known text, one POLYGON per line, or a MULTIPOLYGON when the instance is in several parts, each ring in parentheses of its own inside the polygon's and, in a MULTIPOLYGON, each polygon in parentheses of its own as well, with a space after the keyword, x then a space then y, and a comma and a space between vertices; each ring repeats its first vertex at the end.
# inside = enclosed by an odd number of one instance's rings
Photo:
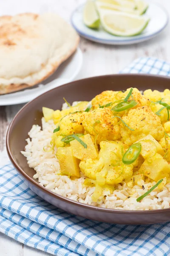
POLYGON ((105 30, 102 28, 99 30, 89 29, 84 25, 82 20, 82 12, 84 6, 79 6, 73 12, 71 16, 71 23, 79 35, 97 43, 112 45, 136 44, 155 37, 167 26, 168 23, 167 11, 158 3, 153 3, 150 0, 147 2, 149 3, 149 8, 144 15, 150 17, 150 22, 147 28, 144 29, 140 35, 133 37, 114 36, 105 32, 105 30))

